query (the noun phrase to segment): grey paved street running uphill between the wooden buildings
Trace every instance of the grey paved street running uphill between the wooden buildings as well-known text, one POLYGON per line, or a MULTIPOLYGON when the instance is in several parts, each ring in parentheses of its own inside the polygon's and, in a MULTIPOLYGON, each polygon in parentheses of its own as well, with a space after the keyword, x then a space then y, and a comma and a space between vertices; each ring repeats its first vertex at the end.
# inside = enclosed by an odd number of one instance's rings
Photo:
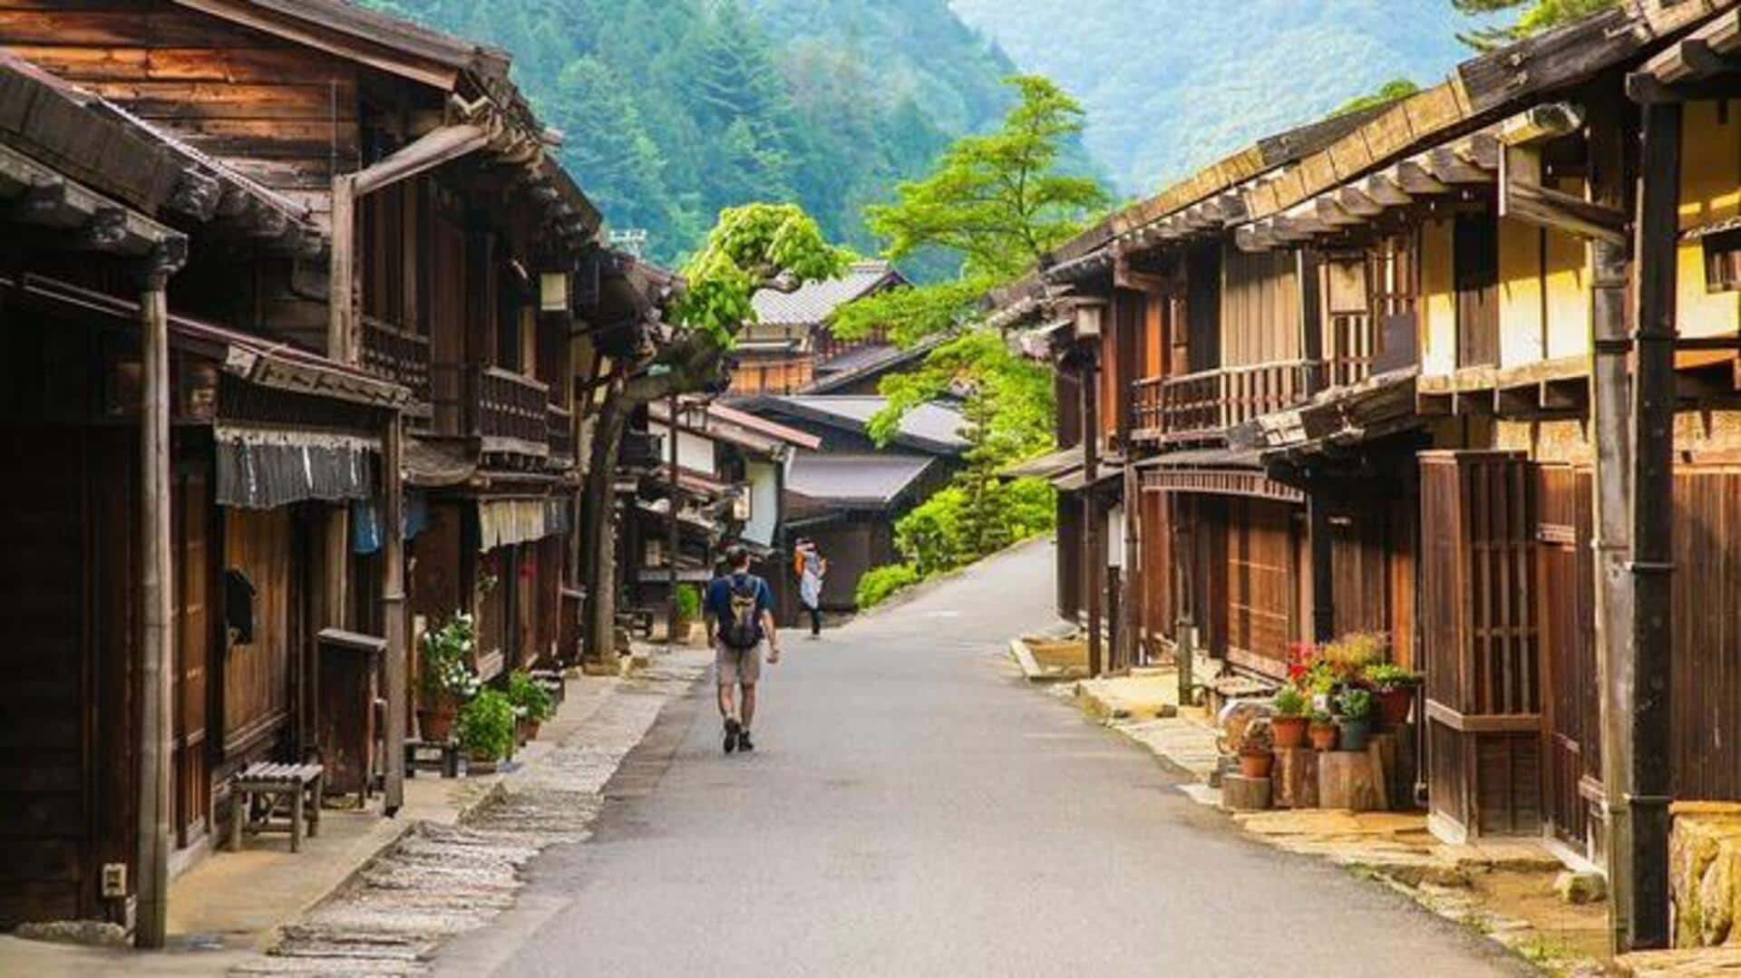
POLYGON ((1133 745, 1024 687, 1052 545, 787 640, 759 750, 707 682, 451 975, 1515 975, 1382 888, 1241 841, 1133 745))

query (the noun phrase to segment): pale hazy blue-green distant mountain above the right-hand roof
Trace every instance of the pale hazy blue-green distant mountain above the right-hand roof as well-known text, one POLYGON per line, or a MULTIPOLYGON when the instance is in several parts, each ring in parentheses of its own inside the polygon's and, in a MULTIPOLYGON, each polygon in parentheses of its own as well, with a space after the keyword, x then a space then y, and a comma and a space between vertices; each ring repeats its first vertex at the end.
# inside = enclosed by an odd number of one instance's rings
POLYGON ((951 0, 1088 110, 1088 151, 1153 191, 1393 78, 1443 80, 1483 23, 1450 0, 951 0))

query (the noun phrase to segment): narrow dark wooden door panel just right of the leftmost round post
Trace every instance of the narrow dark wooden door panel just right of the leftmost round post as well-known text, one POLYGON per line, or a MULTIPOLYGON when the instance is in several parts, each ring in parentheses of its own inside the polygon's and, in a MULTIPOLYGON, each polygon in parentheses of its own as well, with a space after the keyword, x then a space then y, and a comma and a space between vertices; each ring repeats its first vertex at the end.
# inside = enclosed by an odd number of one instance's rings
POLYGON ((174 828, 176 844, 192 846, 211 830, 211 745, 207 715, 211 630, 211 477, 190 465, 174 486, 174 828))

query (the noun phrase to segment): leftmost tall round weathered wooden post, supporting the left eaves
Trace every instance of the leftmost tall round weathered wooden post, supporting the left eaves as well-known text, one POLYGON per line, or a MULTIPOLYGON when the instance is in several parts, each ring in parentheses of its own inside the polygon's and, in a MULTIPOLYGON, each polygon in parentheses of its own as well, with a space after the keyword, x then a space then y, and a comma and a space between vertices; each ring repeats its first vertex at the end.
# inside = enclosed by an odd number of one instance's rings
POLYGON ((158 245, 139 294, 139 804, 134 943, 164 947, 169 929, 171 764, 174 757, 174 564, 169 475, 169 277, 181 249, 158 245))

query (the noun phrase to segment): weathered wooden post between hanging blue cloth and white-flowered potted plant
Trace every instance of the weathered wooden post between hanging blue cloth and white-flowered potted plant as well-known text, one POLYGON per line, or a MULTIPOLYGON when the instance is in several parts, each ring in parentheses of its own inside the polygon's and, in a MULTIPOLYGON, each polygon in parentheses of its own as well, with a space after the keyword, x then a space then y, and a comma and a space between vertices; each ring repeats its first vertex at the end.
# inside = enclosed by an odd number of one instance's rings
POLYGON ((406 726, 409 710, 411 647, 406 633, 406 433, 404 416, 393 414, 381 442, 381 618, 387 623, 387 814, 406 802, 406 726))

